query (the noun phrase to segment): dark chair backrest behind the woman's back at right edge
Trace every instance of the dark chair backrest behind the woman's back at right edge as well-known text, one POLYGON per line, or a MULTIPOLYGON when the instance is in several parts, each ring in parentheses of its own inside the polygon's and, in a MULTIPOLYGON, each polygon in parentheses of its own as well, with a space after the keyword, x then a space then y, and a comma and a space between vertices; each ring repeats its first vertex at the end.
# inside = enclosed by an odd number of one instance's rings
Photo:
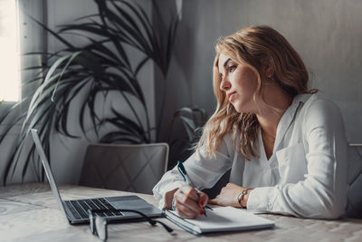
POLYGON ((348 146, 348 218, 362 218, 362 144, 348 146))

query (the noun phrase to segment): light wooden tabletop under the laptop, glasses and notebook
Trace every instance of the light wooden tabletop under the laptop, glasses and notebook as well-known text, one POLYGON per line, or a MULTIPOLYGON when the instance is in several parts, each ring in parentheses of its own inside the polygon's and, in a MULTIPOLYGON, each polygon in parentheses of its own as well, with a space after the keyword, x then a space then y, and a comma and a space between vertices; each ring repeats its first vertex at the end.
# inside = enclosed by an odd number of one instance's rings
MULTIPOLYGON (((129 192, 61 186, 62 198, 129 195, 129 192)), ((133 193, 134 194, 134 193, 133 193)), ((157 205, 151 195, 137 194, 157 205)), ((195 237, 176 227, 173 235, 146 222, 112 224, 109 241, 362 241, 362 220, 321 220, 261 215, 275 221, 274 229, 195 237)), ((100 241, 88 225, 71 226, 63 217, 48 184, 31 183, 0 188, 0 241, 100 241)))

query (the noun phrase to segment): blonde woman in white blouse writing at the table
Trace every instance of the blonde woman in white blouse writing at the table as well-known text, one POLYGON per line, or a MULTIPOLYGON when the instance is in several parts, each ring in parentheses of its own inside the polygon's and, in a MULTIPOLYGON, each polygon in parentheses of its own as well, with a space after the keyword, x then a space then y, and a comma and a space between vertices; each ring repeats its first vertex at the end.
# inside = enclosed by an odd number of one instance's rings
POLYGON ((338 107, 308 89, 291 44, 268 26, 220 39, 214 60, 217 108, 184 163, 196 189, 228 169, 214 198, 186 185, 177 169, 157 183, 161 208, 184 218, 206 203, 302 218, 339 218, 347 202, 347 140, 338 107))

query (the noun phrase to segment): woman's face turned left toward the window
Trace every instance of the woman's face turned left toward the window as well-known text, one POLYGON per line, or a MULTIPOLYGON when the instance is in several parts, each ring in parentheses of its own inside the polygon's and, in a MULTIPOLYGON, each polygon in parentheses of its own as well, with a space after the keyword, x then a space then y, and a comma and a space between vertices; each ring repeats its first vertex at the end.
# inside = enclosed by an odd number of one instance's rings
POLYGON ((226 99, 238 112, 255 112, 256 104, 253 95, 257 88, 258 77, 252 68, 244 63, 236 63, 221 53, 218 68, 222 81, 220 89, 225 92, 226 99))

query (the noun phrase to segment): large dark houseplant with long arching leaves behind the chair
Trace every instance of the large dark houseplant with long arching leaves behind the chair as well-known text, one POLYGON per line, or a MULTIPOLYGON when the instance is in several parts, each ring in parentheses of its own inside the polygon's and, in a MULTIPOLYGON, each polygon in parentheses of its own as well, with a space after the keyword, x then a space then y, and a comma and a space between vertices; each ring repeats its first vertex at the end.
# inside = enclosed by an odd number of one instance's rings
MULTIPOLYGON (((6 160, 4 184, 14 175, 22 154, 25 153, 23 178, 32 160, 37 160, 34 145, 30 148, 25 145, 30 129, 38 129, 48 156, 53 130, 71 138, 79 137, 69 131, 68 125, 71 107, 77 102, 80 103, 77 122, 84 136, 87 137, 89 130, 96 134, 98 140, 92 141, 148 143, 165 140, 159 135, 163 107, 157 117, 157 126, 151 127, 147 102, 138 82, 138 72, 151 60, 162 75, 167 76, 179 18, 171 15, 166 24, 156 1, 152 1, 156 12, 153 21, 141 6, 129 1, 94 1, 98 6, 97 14, 81 17, 77 24, 62 25, 57 32, 34 20, 64 47, 56 53, 27 53, 42 54, 45 58, 41 65, 25 69, 37 71, 34 78, 25 83, 37 86, 31 100, 24 99, 15 103, 0 115, 0 123, 23 123, 20 137, 14 141, 14 150, 6 160), (88 44, 71 44, 65 37, 66 34, 81 35, 88 40, 88 44), (140 53, 141 57, 136 62, 132 60, 131 63, 129 49, 140 53), (121 96, 133 118, 111 105, 107 107, 110 114, 99 114, 96 109, 99 97, 106 98, 111 92, 121 96), (134 100, 137 100, 138 108, 135 108, 134 100), (24 103, 28 105, 28 109, 20 111, 20 115, 14 115, 19 107, 24 109, 24 103), (142 115, 146 117, 146 121, 142 120, 142 115), (91 122, 90 128, 86 127, 87 121, 91 122), (107 125, 114 129, 100 135, 102 127, 107 125), (152 135, 152 131, 156 131, 156 135, 152 135)), ((186 129, 196 127, 193 112, 203 113, 202 119, 205 122, 204 111, 195 108, 185 111, 191 113, 191 116, 183 116, 182 112, 178 112, 174 119, 180 118, 186 129)), ((173 121, 170 125, 172 123, 173 121)), ((2 131, 0 144, 12 129, 10 126, 2 131)), ((169 142, 175 143, 172 140, 169 142)), ((43 169, 37 172, 37 176, 43 180, 43 169)))

